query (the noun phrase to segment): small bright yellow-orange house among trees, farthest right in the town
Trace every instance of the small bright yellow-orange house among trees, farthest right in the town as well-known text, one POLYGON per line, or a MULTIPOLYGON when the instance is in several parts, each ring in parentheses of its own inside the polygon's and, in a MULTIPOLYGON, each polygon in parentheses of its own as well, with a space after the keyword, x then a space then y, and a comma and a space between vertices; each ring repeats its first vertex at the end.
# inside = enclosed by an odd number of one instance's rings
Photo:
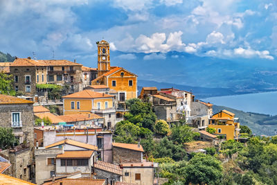
POLYGON ((238 139, 240 134, 238 118, 235 118, 235 114, 225 109, 213 114, 208 127, 215 128, 215 134, 226 136, 226 140, 238 139))

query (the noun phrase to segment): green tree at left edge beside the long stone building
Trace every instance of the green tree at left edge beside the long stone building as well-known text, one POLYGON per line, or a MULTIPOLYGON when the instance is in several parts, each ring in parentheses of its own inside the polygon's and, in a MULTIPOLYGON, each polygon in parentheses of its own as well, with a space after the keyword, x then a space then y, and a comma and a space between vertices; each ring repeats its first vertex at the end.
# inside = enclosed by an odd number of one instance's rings
POLYGON ((13 76, 0 72, 0 94, 15 96, 15 90, 12 87, 13 76))

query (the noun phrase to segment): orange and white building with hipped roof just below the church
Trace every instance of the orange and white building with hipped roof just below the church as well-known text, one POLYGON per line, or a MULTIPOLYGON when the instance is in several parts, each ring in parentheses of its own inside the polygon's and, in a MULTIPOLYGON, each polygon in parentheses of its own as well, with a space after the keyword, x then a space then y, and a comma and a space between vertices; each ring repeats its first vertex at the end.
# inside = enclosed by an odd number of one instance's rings
POLYGON ((104 118, 104 127, 114 127, 116 123, 114 96, 84 90, 62 98, 64 115, 94 113, 104 118))

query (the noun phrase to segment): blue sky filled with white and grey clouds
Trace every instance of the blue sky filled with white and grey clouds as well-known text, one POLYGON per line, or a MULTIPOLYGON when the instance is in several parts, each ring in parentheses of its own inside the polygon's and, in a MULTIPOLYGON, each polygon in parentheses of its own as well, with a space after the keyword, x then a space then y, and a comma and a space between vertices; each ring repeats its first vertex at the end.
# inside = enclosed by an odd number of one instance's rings
POLYGON ((0 51, 76 59, 96 67, 96 42, 111 60, 277 58, 277 6, 268 0, 0 0, 0 51), (175 53, 176 55, 168 55, 175 53))

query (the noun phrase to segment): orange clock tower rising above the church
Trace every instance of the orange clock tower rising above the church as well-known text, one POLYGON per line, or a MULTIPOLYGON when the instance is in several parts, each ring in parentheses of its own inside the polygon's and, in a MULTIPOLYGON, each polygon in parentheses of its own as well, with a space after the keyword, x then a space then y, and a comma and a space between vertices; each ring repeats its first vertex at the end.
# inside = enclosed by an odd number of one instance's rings
POLYGON ((98 77, 110 71, 109 62, 109 42, 101 40, 97 42, 98 46, 98 77))

